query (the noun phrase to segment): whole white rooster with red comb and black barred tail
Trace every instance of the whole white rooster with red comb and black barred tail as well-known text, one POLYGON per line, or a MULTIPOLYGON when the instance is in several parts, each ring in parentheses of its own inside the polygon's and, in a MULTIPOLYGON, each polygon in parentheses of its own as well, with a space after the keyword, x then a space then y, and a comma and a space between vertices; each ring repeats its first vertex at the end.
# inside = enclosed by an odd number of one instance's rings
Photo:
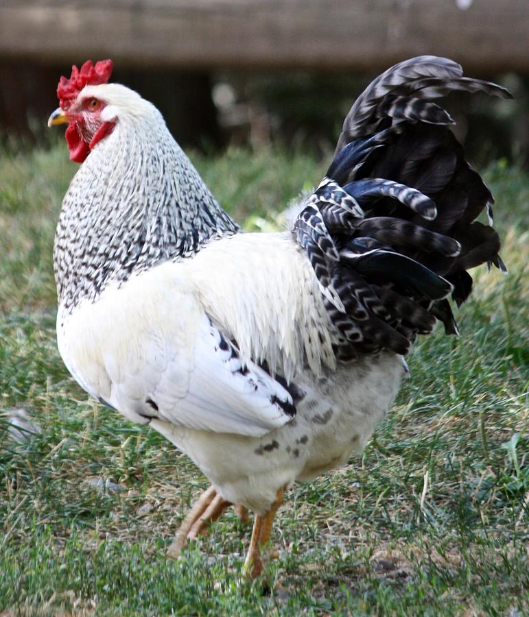
POLYGON ((505 270, 493 197, 434 99, 510 95, 447 58, 393 66, 353 104, 289 228, 242 234, 158 110, 109 84, 111 70, 73 66, 49 118, 82 163, 55 239, 58 348, 89 394, 211 481, 172 556, 234 504, 255 513, 255 578, 285 489, 360 454, 416 335, 437 320, 457 332, 449 297, 467 299, 467 270, 505 270))

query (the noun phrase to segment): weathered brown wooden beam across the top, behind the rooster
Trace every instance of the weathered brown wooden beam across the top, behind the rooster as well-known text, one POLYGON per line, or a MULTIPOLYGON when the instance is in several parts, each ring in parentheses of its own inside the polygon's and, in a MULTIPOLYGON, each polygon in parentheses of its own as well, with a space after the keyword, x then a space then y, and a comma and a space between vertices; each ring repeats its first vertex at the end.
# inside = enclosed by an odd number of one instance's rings
POLYGON ((384 69, 422 53, 529 72, 528 0, 19 0, 0 55, 124 66, 384 69), (465 10, 458 8, 467 6, 465 10))

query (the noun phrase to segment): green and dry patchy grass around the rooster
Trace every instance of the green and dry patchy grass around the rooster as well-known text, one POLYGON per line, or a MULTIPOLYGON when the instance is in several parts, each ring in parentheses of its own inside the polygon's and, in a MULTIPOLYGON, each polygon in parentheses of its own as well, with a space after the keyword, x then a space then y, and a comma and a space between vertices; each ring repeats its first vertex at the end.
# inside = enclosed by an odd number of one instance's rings
MULTIPOLYGON (((289 492, 267 594, 239 581, 250 529, 231 512, 185 559, 166 560, 207 481, 62 365, 51 247, 66 158, 62 144, 0 154, 0 614, 529 612, 526 173, 486 170, 510 276, 480 269, 462 335, 437 330, 416 346, 412 378, 362 459, 289 492), (20 442, 13 407, 38 426, 20 442)), ((323 171, 281 150, 196 164, 237 219, 252 213, 247 226, 265 229, 323 171)))

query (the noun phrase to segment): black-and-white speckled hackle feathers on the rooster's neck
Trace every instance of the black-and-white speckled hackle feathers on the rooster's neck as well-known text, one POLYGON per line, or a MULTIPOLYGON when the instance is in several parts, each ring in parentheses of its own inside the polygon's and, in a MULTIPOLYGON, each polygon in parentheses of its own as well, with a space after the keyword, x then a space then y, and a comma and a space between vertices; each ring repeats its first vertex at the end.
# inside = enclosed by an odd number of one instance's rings
MULTIPOLYGON (((92 78, 93 70, 85 72, 86 79, 92 78)), ((76 77, 75 87, 85 77, 76 77)), ((128 156, 96 161, 90 155, 64 197, 54 259, 60 304, 67 309, 85 298, 95 300, 110 283, 191 256, 211 239, 239 230, 169 134, 161 114, 147 101, 141 105, 154 117, 142 125, 121 118, 113 135, 113 152, 128 156), (137 130, 148 132, 156 149, 137 130)))

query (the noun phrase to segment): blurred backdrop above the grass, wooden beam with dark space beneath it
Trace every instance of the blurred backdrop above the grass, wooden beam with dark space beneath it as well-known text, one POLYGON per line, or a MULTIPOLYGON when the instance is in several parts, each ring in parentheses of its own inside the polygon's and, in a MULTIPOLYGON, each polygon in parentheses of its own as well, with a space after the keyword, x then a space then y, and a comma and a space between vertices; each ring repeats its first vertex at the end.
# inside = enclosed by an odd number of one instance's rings
POLYGON ((473 160, 527 165, 528 0, 2 0, 0 132, 49 138, 60 75, 112 58, 185 147, 327 152, 364 86, 424 53, 511 90, 448 107, 473 160))

